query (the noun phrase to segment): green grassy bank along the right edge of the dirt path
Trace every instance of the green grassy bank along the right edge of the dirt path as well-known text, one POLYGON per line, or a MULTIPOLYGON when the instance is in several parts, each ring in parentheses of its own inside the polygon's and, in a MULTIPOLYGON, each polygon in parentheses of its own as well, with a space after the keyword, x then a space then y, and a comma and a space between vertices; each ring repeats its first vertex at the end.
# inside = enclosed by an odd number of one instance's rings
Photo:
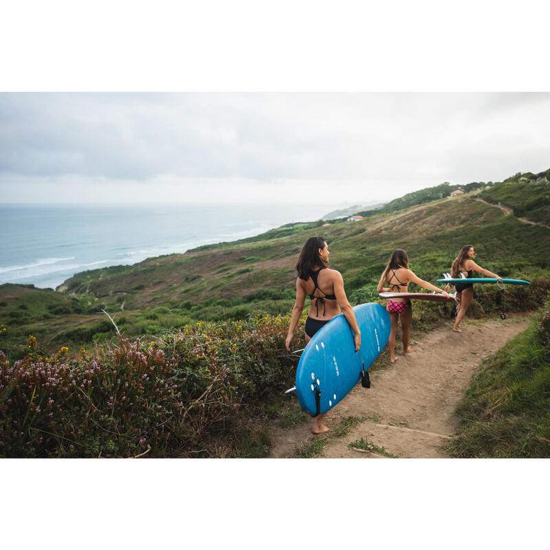
POLYGON ((529 328, 485 362, 457 412, 452 456, 550 456, 550 301, 529 328))

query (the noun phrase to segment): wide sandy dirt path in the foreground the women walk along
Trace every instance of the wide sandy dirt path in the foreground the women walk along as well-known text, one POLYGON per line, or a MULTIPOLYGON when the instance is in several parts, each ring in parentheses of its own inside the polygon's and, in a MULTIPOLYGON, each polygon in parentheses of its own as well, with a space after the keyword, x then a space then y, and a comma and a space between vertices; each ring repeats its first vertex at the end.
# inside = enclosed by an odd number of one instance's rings
POLYGON ((412 340, 415 351, 406 356, 399 355, 398 342, 398 360, 373 371, 371 388, 357 384, 324 420, 332 429, 349 417, 362 417, 363 421, 342 437, 332 431, 311 434, 310 419, 296 428, 274 428, 270 458, 299 456, 300 448, 318 439, 327 439, 320 457, 383 457, 348 447, 362 438, 399 458, 448 456, 441 445, 459 430, 454 410, 472 375, 485 358, 523 331, 528 320, 525 316, 483 323, 464 320, 462 333, 452 332, 449 327, 412 340))

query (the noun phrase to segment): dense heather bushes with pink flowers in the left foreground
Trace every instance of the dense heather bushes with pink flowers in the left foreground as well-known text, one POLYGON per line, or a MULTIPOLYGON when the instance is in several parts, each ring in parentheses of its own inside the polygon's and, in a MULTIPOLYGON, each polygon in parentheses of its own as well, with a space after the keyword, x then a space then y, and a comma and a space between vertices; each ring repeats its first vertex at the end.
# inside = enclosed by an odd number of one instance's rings
POLYGON ((0 456, 211 456, 214 438, 231 446, 239 410, 292 385, 288 323, 199 322, 74 356, 46 357, 30 336, 22 360, 0 352, 0 456))

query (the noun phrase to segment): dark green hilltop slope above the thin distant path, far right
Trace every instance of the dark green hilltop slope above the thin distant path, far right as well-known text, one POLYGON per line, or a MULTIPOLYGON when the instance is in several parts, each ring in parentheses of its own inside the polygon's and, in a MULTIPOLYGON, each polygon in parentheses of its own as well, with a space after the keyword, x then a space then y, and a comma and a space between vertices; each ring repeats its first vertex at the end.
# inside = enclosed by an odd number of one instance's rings
POLYGON ((517 217, 550 225, 550 170, 538 174, 518 173, 484 190, 479 197, 508 206, 517 217))

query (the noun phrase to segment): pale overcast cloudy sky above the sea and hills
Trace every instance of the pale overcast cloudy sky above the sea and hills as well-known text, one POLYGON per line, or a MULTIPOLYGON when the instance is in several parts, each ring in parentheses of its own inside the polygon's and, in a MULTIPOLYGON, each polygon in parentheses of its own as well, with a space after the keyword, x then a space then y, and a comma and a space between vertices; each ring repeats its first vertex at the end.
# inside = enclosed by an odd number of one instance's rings
POLYGON ((550 94, 0 94, 3 202, 388 201, 550 168, 550 94))

